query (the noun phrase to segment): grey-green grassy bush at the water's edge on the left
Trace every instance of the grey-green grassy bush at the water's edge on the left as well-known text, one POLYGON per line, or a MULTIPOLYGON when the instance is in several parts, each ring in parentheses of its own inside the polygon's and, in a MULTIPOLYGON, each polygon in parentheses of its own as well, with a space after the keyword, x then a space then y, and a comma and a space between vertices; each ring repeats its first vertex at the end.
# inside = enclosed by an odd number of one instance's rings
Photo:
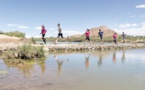
POLYGON ((13 50, 3 53, 3 59, 34 59, 44 57, 43 47, 34 47, 32 45, 22 45, 13 50))

